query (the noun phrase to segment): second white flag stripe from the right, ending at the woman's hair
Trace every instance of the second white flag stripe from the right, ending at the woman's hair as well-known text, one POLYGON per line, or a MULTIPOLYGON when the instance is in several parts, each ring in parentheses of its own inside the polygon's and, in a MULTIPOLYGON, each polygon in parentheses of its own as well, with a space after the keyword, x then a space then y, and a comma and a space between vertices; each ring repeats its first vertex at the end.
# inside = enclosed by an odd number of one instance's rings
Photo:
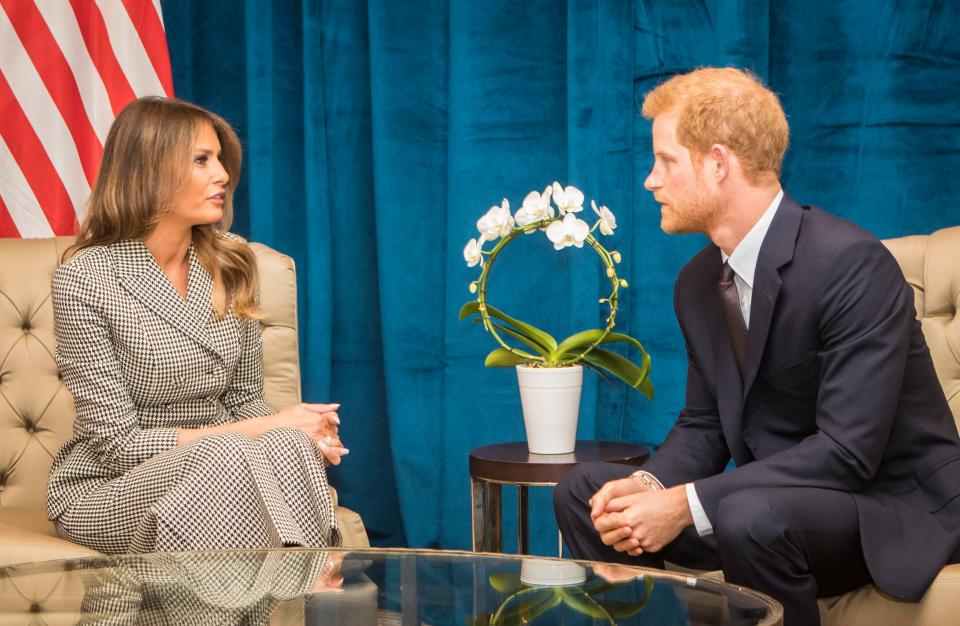
POLYGON ((63 0, 36 0, 36 5, 63 56, 67 59, 67 64, 77 82, 77 88, 80 90, 80 99, 83 100, 87 117, 100 139, 100 144, 103 145, 110 125, 113 123, 113 109, 110 107, 107 88, 83 41, 77 18, 73 11, 63 10, 63 0))

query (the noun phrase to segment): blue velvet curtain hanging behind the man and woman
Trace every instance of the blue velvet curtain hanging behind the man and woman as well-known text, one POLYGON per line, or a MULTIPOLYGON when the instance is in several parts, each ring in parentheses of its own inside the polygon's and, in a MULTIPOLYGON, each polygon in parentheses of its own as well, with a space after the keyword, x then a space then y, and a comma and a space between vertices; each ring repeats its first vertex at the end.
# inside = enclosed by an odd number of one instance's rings
MULTIPOLYGON (((957 3, 814 4, 162 1, 177 95, 244 141, 235 230, 297 261, 304 396, 343 404, 351 454, 333 481, 375 544, 468 547, 467 453, 523 437, 514 373, 484 369, 493 343, 456 317, 477 275, 461 251, 502 197, 517 208, 559 180, 617 216, 631 283, 618 327, 650 351, 657 395, 588 374, 580 437, 653 446, 673 423, 673 281, 704 241, 664 235, 643 189, 638 109, 666 77, 738 65, 771 85, 801 202, 880 237, 960 223, 957 3)), ((559 335, 595 327, 591 254, 524 238, 491 302, 559 335)), ((551 553, 539 491, 534 549, 551 553)))

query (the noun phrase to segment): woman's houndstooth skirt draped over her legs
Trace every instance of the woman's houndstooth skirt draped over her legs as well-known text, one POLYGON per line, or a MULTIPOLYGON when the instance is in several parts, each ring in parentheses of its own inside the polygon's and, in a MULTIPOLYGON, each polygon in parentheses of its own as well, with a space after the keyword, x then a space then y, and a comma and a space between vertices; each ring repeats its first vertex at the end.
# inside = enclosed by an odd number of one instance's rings
POLYGON ((340 545, 322 457, 301 431, 216 433, 102 483, 57 520, 108 554, 340 545))

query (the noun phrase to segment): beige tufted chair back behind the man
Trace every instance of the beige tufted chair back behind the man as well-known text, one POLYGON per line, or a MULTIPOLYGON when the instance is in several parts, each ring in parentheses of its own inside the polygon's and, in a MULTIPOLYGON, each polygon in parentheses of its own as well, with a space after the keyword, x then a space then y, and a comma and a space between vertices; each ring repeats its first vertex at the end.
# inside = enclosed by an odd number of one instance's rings
POLYGON ((960 427, 960 226, 884 244, 913 287, 937 377, 960 427))

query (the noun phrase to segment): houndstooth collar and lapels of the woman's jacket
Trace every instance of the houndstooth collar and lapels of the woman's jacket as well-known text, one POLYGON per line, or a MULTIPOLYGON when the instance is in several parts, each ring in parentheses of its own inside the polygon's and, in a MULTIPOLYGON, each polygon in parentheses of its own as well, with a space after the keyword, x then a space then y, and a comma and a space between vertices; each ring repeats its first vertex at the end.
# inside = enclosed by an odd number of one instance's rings
POLYGON ((130 294, 145 307, 156 313, 172 328, 183 333, 204 348, 218 354, 207 332, 211 309, 209 289, 203 289, 206 271, 190 250, 190 275, 187 300, 177 290, 157 265, 153 255, 141 241, 125 240, 110 246, 114 267, 120 282, 130 294), (206 308, 203 300, 206 299, 206 308))

